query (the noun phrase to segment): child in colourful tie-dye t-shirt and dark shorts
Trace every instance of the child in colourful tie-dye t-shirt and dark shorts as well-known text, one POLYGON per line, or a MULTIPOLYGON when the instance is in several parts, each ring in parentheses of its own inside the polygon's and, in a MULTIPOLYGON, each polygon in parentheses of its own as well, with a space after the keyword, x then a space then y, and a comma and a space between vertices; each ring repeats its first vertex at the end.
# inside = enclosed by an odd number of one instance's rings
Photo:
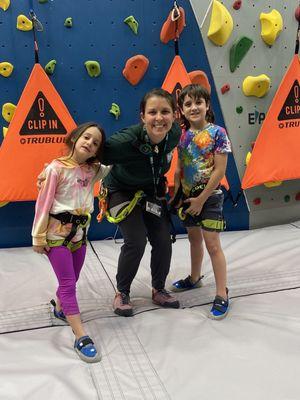
POLYGON ((224 229, 224 196, 220 181, 225 175, 230 142, 225 129, 213 123, 210 96, 205 88, 186 86, 179 95, 178 104, 185 130, 178 145, 175 193, 182 190, 179 216, 188 232, 191 275, 173 283, 172 290, 184 291, 201 286, 204 239, 216 281, 216 297, 210 317, 221 319, 228 312, 229 302, 226 261, 219 238, 219 232, 224 229))

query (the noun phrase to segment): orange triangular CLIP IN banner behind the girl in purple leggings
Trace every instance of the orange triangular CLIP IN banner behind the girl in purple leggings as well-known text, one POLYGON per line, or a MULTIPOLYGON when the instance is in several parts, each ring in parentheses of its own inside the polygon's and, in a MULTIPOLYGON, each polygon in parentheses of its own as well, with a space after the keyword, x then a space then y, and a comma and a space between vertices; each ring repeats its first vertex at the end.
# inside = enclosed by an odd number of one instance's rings
POLYGON ((62 154, 76 126, 47 74, 35 64, 0 148, 0 201, 37 197, 38 174, 62 154))

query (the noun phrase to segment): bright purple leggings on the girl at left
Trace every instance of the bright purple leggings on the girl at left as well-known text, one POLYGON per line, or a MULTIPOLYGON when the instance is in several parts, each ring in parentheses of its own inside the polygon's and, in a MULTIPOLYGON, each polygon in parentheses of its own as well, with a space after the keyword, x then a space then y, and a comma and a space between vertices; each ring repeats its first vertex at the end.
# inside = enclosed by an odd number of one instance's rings
POLYGON ((48 258, 58 280, 57 298, 65 315, 79 314, 76 282, 84 263, 86 245, 73 253, 65 246, 51 247, 48 258))

